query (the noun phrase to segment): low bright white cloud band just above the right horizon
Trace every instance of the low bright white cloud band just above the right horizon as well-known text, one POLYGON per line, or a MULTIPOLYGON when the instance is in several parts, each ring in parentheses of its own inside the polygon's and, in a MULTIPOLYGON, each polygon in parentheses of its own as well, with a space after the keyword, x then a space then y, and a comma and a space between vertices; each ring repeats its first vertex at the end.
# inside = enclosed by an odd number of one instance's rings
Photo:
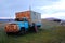
POLYGON ((58 12, 58 13, 54 13, 54 14, 43 14, 41 16, 41 18, 48 18, 48 17, 55 17, 55 18, 60 18, 60 19, 65 19, 65 13, 64 12, 58 12))

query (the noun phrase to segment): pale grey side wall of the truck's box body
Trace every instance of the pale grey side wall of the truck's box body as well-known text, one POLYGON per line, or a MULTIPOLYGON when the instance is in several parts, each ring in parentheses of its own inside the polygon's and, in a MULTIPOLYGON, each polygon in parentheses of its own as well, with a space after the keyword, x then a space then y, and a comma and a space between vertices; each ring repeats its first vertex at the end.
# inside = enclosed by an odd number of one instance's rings
POLYGON ((31 22, 32 23, 41 23, 41 14, 38 12, 30 11, 31 22))

